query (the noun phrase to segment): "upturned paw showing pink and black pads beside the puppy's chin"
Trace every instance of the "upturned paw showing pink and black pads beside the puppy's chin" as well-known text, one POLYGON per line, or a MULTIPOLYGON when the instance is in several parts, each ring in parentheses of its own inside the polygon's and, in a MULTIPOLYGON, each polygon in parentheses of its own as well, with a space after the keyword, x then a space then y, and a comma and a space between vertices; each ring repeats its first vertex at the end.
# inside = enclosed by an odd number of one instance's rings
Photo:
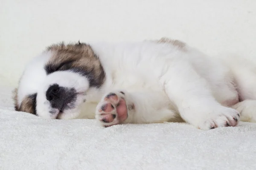
POLYGON ((128 108, 122 91, 107 94, 96 107, 96 119, 104 127, 121 124, 127 117, 128 108))

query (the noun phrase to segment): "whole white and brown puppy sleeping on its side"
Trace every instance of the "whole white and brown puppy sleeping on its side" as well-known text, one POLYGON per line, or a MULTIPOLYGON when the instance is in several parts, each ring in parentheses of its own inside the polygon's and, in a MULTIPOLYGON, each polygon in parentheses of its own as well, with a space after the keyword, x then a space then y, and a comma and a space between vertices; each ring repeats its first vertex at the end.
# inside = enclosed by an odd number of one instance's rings
POLYGON ((15 110, 46 119, 188 122, 201 130, 256 122, 256 69, 178 40, 49 46, 26 66, 15 110))

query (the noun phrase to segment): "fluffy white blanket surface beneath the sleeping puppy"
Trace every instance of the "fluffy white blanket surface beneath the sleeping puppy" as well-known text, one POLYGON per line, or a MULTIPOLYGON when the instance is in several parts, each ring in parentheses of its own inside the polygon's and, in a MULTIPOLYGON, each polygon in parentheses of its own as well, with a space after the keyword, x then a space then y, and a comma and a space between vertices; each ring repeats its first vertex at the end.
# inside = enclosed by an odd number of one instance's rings
POLYGON ((0 170, 256 170, 253 123, 102 128, 13 111, 11 89, 0 89, 0 170))

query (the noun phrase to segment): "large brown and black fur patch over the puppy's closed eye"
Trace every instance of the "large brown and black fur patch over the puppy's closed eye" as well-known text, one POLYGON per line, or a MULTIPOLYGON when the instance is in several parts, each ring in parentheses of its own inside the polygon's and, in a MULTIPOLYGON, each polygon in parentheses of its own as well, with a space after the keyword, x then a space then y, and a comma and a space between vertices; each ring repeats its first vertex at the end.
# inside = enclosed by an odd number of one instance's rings
POLYGON ((76 68, 93 76, 92 86, 100 87, 105 81, 105 71, 90 45, 81 42, 65 45, 62 42, 49 46, 47 51, 52 52, 45 67, 49 73, 76 68))

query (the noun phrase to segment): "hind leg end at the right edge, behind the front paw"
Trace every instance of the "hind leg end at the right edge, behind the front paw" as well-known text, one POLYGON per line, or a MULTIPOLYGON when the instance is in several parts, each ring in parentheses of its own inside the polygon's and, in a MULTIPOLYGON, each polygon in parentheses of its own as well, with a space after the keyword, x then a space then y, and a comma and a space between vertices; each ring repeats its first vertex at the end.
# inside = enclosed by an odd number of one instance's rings
POLYGON ((256 100, 244 100, 232 106, 241 116, 241 121, 256 122, 256 100))

